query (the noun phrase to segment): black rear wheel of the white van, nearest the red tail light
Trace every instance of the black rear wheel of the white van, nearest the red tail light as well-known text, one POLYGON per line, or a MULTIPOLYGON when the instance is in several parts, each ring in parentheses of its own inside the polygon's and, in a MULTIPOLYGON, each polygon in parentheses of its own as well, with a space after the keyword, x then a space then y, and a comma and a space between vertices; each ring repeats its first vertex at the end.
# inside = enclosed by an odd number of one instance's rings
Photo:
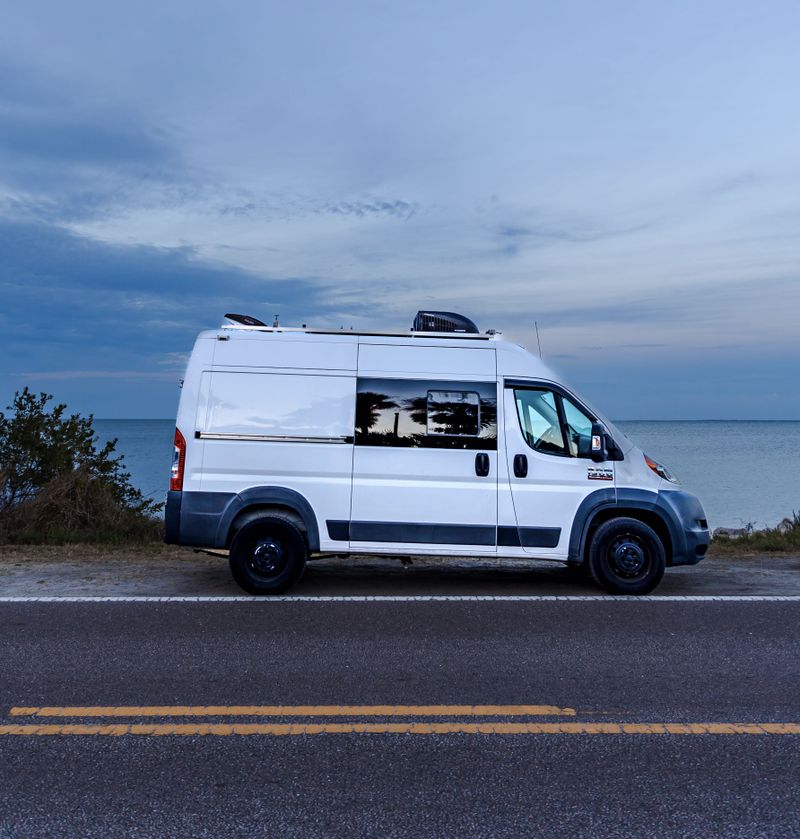
POLYGON ((303 533, 280 516, 262 516, 231 542, 233 579, 248 594, 282 594, 302 576, 308 558, 303 533))

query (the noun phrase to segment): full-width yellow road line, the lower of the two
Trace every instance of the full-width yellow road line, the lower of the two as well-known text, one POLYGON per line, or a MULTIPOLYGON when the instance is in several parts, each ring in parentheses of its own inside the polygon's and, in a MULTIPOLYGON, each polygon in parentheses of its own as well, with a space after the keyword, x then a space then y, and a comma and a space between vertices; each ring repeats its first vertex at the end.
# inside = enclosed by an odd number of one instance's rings
POLYGON ((793 734, 800 723, 614 723, 614 722, 408 722, 408 723, 110 723, 0 725, 0 736, 92 735, 120 737, 301 734, 793 734))

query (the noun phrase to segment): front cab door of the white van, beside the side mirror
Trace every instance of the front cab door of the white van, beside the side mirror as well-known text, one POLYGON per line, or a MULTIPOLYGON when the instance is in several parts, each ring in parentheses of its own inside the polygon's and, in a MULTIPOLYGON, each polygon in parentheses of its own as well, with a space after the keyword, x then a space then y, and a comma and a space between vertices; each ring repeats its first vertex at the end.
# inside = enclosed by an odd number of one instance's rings
POLYGON ((614 464, 591 460, 593 418, 561 388, 507 381, 503 400, 518 532, 501 541, 540 557, 565 558, 581 501, 596 489, 613 489, 614 464))

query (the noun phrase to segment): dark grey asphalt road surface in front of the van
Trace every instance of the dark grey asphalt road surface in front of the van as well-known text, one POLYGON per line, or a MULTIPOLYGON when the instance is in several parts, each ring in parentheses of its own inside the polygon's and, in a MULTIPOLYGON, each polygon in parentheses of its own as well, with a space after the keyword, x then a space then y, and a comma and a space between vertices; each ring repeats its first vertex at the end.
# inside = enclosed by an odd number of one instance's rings
POLYGON ((0 836, 796 836, 800 736, 589 732, 800 723, 799 618, 797 601, 3 603, 0 731, 154 728, 0 736, 0 836), (555 710, 433 719, 586 733, 159 733, 424 727, 430 709, 396 706, 485 704, 555 710), (108 707, 24 710, 53 706, 108 707))

